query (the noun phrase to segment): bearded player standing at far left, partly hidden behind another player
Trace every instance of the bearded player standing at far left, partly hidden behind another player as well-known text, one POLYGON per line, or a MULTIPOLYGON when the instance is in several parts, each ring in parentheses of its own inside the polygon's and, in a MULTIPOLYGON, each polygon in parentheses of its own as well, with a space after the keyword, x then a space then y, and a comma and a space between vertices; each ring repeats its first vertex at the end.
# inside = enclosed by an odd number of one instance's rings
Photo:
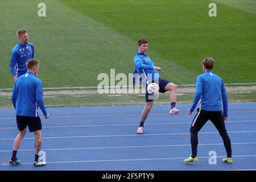
POLYGON ((19 76, 27 72, 27 60, 34 58, 34 44, 28 42, 27 31, 20 29, 17 31, 17 36, 19 43, 16 44, 13 51, 11 51, 11 59, 9 64, 14 81, 16 81, 19 76), (16 69, 14 69, 14 67, 16 67, 16 69))

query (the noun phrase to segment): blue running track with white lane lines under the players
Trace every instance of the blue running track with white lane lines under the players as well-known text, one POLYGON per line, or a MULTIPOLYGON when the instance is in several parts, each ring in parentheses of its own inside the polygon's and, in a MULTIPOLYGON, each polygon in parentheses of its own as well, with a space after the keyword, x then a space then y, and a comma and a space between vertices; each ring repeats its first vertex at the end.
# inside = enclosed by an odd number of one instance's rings
MULTIPOLYGON (((233 164, 222 162, 222 139, 209 121, 199 133, 197 163, 185 164, 191 154, 190 105, 178 105, 181 113, 169 115, 168 105, 154 105, 144 124, 137 128, 143 106, 55 107, 42 118, 42 151, 47 165, 34 168, 34 134, 23 139, 19 166, 9 166, 17 134, 15 110, 0 110, 0 170, 256 170, 256 103, 229 104, 226 129, 232 142, 233 164), (216 152, 216 164, 209 152, 216 152)), ((42 113, 40 113, 42 115, 42 113)))

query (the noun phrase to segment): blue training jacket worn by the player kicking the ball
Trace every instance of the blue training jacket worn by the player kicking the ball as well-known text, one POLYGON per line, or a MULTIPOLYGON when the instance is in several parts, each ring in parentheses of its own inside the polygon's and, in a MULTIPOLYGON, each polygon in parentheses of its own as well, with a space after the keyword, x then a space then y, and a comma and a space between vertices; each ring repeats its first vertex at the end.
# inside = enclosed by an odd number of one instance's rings
POLYGON ((137 52, 134 57, 134 64, 135 68, 133 74, 138 73, 138 75, 141 76, 140 78, 142 82, 146 81, 146 77, 144 77, 144 75, 147 76, 148 82, 161 78, 158 71, 154 69, 154 63, 145 53, 137 52))

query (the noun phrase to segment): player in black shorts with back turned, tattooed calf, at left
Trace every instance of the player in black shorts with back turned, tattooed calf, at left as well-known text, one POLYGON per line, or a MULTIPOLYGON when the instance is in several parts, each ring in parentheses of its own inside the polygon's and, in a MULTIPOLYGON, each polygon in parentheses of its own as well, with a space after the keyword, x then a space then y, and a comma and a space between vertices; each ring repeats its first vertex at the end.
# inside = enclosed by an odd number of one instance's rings
POLYGON ((46 119, 49 118, 49 114, 44 106, 42 81, 35 76, 39 71, 39 61, 30 59, 27 61, 26 66, 27 72, 15 81, 11 97, 16 110, 18 135, 14 140, 10 164, 17 165, 20 163, 20 160, 16 158, 16 154, 28 126, 30 132, 34 132, 35 135, 34 166, 38 167, 45 165, 38 161, 38 152, 42 144, 42 123, 38 116, 38 107, 40 107, 46 119))

